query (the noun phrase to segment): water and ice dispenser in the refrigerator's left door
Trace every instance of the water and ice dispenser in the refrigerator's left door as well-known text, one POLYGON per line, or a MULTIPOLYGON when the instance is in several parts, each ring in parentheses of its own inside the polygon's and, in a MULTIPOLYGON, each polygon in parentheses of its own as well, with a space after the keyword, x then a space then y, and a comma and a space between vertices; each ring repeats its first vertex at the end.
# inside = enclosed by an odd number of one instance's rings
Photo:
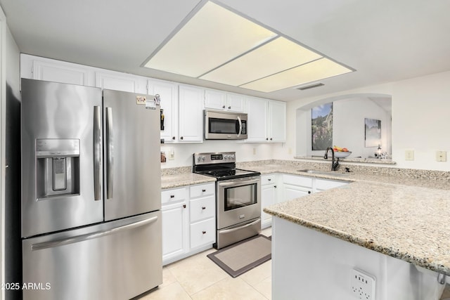
POLYGON ((79 139, 36 140, 37 198, 79 195, 79 139))

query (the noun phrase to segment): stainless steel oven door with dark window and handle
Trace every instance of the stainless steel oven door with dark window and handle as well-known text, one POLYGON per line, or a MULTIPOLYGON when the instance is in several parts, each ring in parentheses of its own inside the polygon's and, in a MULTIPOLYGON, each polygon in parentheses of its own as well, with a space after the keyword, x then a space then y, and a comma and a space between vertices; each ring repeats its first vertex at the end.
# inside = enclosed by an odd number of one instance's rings
POLYGON ((217 182, 217 229, 261 216, 261 176, 217 182))

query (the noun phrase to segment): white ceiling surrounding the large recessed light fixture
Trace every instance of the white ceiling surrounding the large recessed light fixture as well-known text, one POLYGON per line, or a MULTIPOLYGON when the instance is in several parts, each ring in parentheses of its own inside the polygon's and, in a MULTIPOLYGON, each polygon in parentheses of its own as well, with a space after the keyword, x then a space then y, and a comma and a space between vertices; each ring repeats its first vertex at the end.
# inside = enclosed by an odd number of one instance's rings
POLYGON ((264 98, 297 100, 450 70, 446 0, 219 1, 356 70, 316 89, 259 93, 141 67, 199 2, 0 0, 22 53, 264 98))

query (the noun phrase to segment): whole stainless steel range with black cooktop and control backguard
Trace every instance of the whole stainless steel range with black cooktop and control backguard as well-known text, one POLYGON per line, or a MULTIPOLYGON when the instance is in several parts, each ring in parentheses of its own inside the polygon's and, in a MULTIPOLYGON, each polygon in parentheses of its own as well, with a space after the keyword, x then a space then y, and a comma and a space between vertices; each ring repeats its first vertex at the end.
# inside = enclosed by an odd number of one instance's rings
POLYGON ((236 152, 193 154, 193 172, 217 178, 217 249, 261 232, 261 174, 236 169, 236 152))

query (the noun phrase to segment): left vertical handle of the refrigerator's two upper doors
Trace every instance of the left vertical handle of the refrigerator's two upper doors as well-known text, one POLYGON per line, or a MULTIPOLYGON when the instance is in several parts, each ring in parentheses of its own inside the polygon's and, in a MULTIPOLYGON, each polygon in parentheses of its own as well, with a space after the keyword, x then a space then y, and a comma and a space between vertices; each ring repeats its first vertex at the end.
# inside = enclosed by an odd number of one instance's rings
POLYGON ((101 200, 101 108, 94 106, 94 200, 101 200))

